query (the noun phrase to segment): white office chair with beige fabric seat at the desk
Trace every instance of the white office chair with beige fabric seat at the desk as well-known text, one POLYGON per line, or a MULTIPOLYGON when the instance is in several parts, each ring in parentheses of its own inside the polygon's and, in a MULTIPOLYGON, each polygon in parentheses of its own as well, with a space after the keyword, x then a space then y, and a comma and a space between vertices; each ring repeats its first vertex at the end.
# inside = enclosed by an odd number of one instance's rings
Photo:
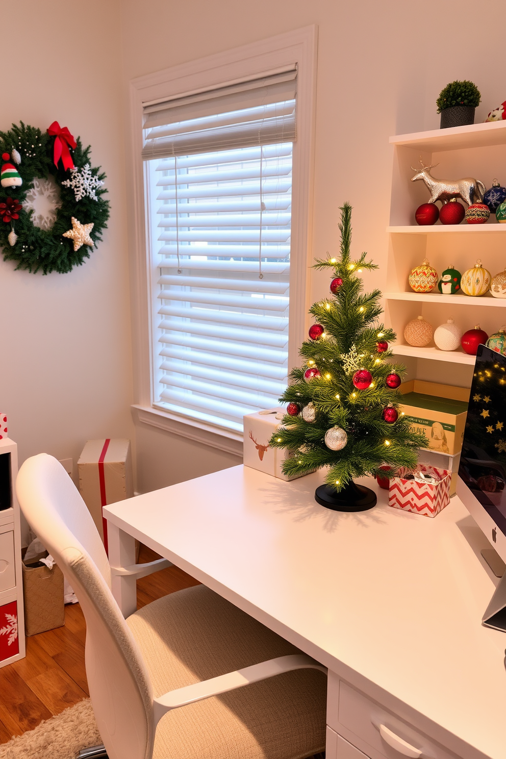
POLYGON ((59 462, 28 458, 16 490, 83 609, 86 676, 109 759, 304 759, 324 750, 325 667, 203 585, 125 620, 93 519, 59 462))

